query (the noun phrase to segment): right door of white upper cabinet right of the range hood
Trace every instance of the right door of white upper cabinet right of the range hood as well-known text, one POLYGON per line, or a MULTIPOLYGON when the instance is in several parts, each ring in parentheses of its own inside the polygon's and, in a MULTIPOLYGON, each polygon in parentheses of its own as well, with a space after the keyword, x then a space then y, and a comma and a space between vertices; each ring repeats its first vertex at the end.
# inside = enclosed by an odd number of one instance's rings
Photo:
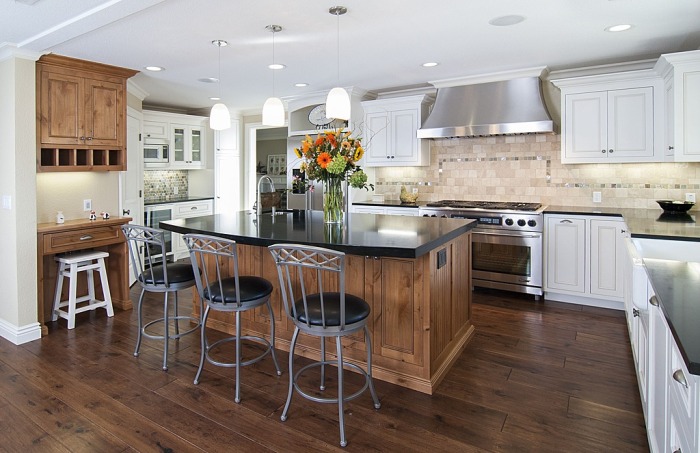
POLYGON ((608 150, 610 157, 654 155, 654 89, 608 93, 608 150))

